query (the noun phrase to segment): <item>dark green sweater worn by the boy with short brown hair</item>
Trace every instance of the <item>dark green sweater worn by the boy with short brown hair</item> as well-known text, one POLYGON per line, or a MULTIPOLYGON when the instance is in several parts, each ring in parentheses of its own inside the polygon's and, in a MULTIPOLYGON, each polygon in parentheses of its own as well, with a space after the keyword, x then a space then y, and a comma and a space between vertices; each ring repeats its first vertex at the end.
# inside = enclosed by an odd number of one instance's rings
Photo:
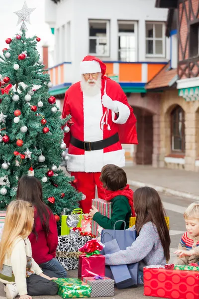
MULTIPOLYGON (((112 202, 111 219, 97 212, 93 220, 96 221, 104 229, 113 229, 117 220, 124 220, 126 222, 126 229, 129 227, 129 219, 131 217, 131 208, 128 203, 128 198, 123 195, 113 197, 109 202, 112 202)), ((124 229, 124 223, 118 222, 115 229, 124 229)))

